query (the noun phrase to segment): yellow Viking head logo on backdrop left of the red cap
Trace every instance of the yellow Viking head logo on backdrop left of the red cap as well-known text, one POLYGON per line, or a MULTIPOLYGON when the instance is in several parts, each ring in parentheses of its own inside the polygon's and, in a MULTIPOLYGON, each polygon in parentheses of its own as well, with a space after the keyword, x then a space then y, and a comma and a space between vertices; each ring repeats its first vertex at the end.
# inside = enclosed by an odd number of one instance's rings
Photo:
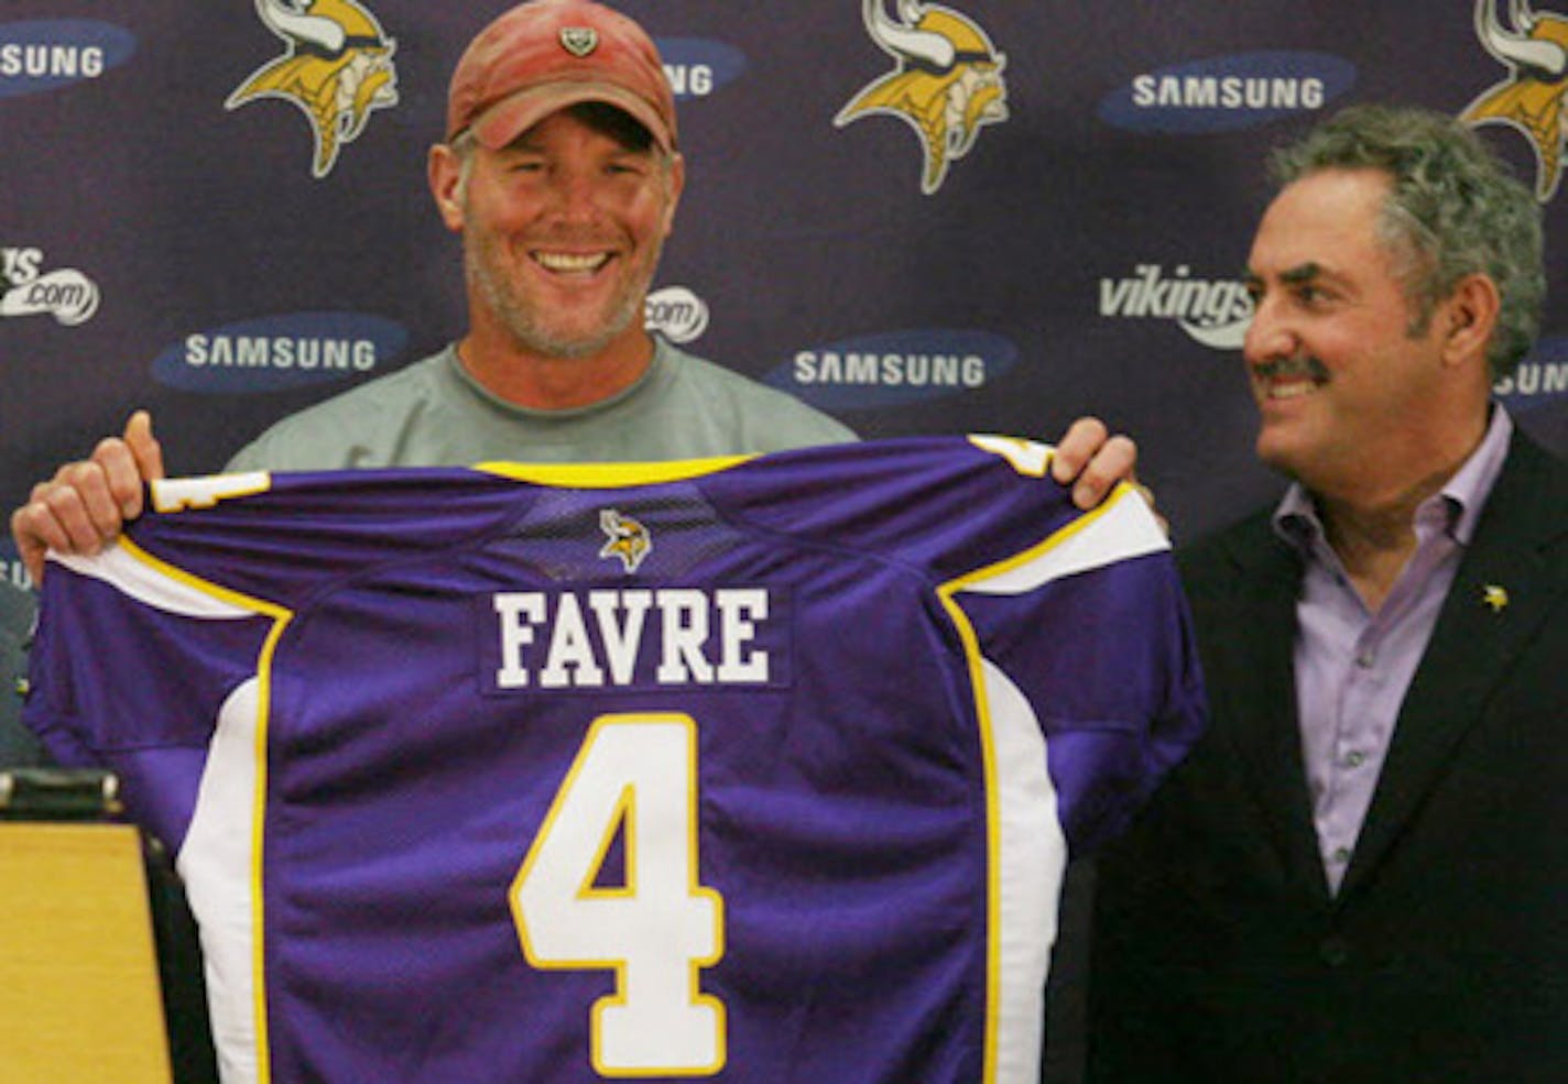
POLYGON ((325 177, 370 113, 397 105, 397 42, 356 0, 256 0, 256 13, 289 52, 256 69, 224 108, 263 97, 298 105, 315 133, 310 172, 325 177))

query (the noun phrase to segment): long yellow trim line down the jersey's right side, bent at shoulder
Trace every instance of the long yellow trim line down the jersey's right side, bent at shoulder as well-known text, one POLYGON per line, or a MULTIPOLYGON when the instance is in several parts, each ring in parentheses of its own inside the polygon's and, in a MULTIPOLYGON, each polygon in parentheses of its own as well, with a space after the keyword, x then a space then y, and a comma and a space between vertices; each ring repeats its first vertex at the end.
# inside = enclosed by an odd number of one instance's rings
POLYGON ((996 738, 993 735, 991 722, 991 702, 986 697, 985 674, 982 670, 983 655, 980 652, 980 638, 975 634, 974 625, 969 622, 969 616, 963 611, 963 606, 953 598, 966 587, 977 583, 983 583, 993 576, 1011 572, 1019 565, 1029 564, 1030 561, 1040 558, 1043 553, 1060 547, 1063 542, 1073 536, 1085 531, 1090 525, 1105 515, 1118 501, 1135 497, 1135 492, 1127 482, 1118 482, 1099 508, 1091 512, 1085 512, 1079 519, 1073 520, 1066 526, 1060 528, 1054 534, 1047 536, 1036 545, 1014 553, 1011 558, 1005 558, 983 569, 967 572, 955 580, 938 586, 936 595, 942 603, 942 608, 952 617, 953 628, 958 631, 958 639, 964 645, 964 658, 969 666, 969 686, 974 691, 975 702, 975 717, 980 722, 980 760, 985 774, 985 819, 986 819, 986 981, 985 981, 985 1061, 980 1079, 985 1084, 996 1081, 997 1071, 997 1003, 1000 998, 1000 981, 1002 981, 1002 890, 1000 890, 1000 865, 1002 858, 999 854, 1002 824, 1000 811, 997 810, 997 768, 996 768, 996 738))

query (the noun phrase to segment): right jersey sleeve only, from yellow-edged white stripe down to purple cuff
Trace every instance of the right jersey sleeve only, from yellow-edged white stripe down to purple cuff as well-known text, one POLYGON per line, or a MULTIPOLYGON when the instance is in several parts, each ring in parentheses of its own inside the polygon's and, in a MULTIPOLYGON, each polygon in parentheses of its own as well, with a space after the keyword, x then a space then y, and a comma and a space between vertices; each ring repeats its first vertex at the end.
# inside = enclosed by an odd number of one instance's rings
POLYGON ((1163 531, 1123 486, 1038 545, 953 581, 950 594, 983 659, 977 685, 993 730, 1040 728, 1068 846, 1091 851, 1204 727, 1163 531))

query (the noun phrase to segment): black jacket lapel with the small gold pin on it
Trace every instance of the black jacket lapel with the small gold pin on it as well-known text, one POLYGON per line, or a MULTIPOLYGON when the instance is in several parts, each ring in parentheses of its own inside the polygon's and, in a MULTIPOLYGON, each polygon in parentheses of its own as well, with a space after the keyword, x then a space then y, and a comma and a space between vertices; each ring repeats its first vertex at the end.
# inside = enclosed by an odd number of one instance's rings
POLYGON ((1341 899, 1388 854, 1510 663, 1568 589, 1565 472, 1515 435, 1474 542, 1400 706, 1341 899), (1507 591, 1501 609, 1490 587, 1507 591))

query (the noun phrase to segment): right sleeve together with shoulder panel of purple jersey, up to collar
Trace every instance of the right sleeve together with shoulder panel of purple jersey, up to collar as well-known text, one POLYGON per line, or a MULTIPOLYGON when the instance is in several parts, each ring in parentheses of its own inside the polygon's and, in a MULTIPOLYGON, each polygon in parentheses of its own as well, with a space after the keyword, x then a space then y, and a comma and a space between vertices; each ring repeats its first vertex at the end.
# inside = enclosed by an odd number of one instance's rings
POLYGON ((931 583, 977 656, 993 757, 1032 755, 1044 735, 1057 816, 1083 852, 1185 755, 1206 708, 1165 533, 1127 486, 1080 512, 1052 454, 1000 435, 804 451, 759 461, 775 475, 764 500, 726 506, 931 583))

